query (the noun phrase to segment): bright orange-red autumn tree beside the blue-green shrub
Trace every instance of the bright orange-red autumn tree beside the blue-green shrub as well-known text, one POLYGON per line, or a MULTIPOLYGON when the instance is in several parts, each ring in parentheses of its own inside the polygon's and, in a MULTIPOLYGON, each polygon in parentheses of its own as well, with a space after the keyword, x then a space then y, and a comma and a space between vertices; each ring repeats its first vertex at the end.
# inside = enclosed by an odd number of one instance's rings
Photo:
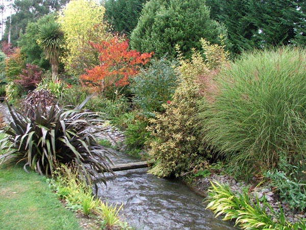
POLYGON ((117 95, 124 86, 129 85, 129 78, 135 76, 152 56, 152 53, 141 54, 136 50, 129 50, 129 41, 120 41, 117 37, 91 45, 99 53, 100 64, 86 70, 87 73, 80 76, 81 82, 100 91, 113 87, 113 92, 117 95))

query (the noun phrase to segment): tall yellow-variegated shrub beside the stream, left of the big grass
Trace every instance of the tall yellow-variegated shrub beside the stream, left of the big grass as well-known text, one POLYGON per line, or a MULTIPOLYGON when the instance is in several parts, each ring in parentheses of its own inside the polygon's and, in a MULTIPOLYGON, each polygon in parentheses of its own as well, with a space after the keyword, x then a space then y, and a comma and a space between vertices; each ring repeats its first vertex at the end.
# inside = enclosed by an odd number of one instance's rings
POLYGON ((156 114, 154 119, 150 119, 151 126, 148 127, 155 137, 150 142, 149 154, 157 160, 156 168, 150 171, 152 174, 179 176, 184 171, 198 167, 210 157, 210 152, 200 149, 196 124, 192 119, 200 95, 197 81, 200 76, 209 75, 213 69, 226 62, 227 55, 222 46, 211 45, 205 39, 201 40, 201 44, 206 60, 195 50, 191 60, 184 60, 179 47, 176 47, 180 62, 176 69, 179 85, 172 100, 163 105, 165 113, 156 114))

